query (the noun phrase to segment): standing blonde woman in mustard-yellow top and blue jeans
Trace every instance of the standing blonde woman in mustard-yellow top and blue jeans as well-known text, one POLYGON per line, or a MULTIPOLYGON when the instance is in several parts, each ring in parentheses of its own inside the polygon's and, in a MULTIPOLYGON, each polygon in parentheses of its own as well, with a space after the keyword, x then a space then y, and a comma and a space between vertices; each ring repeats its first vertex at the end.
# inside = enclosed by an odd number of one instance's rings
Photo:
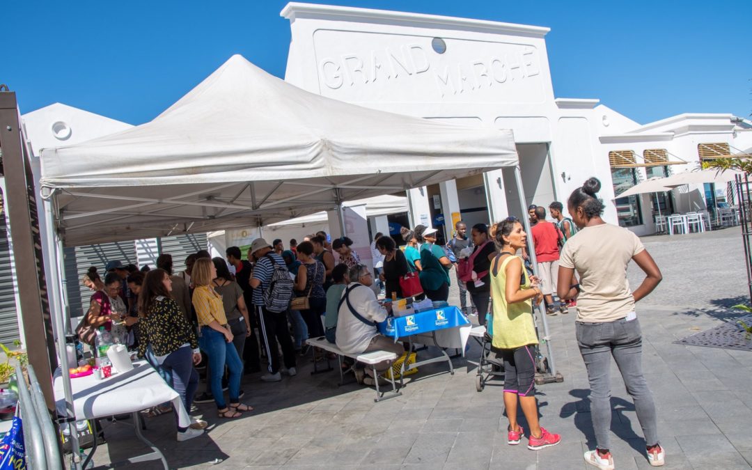
POLYGON ((253 408, 242 404, 239 399, 243 363, 238 356, 238 350, 232 344, 235 336, 227 324, 222 296, 211 286, 216 277, 217 268, 214 268, 211 259, 196 259, 191 270, 191 281, 196 286, 191 302, 196 309, 201 329, 199 346, 209 357, 211 377, 208 380, 214 402, 221 418, 236 418, 240 417, 243 411, 253 411, 253 408), (229 371, 229 405, 226 404, 222 393, 222 374, 225 365, 229 371))

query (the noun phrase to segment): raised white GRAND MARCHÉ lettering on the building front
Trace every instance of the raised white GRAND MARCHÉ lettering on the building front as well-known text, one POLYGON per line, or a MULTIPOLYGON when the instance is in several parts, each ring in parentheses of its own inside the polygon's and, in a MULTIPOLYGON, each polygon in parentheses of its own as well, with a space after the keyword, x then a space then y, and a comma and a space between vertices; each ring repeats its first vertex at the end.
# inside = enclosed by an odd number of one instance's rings
POLYGON ((329 56, 319 62, 319 73, 329 89, 368 86, 391 80, 428 75, 441 97, 502 86, 540 74, 538 54, 530 46, 509 48, 483 59, 438 64, 420 44, 329 56))

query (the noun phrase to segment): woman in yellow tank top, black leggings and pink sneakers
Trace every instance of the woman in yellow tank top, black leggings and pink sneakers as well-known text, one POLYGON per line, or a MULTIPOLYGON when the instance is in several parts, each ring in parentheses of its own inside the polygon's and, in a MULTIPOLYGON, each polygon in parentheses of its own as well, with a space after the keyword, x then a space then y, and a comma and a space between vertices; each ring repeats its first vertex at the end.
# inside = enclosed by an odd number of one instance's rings
POLYGON ((525 419, 530 426, 527 448, 538 450, 559 444, 561 436, 551 434, 538 423, 538 405, 535 403, 535 360, 532 347, 538 344, 535 323, 532 320, 532 302, 538 305, 543 299, 541 290, 532 285, 522 260, 515 256, 525 247, 527 235, 522 224, 514 217, 496 225, 496 244, 502 247, 491 263, 491 298, 493 299, 494 347, 504 360, 504 408, 509 426, 507 442, 520 444, 524 434, 517 423, 519 399, 525 419))

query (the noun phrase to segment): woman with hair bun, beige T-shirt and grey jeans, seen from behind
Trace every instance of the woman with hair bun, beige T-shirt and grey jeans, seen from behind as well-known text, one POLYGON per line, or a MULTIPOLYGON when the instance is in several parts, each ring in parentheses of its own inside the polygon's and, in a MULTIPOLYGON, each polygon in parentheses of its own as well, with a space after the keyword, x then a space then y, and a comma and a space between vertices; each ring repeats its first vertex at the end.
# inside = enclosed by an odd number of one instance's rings
POLYGON ((614 468, 609 451, 613 356, 627 393, 635 402, 647 444, 647 461, 660 466, 665 453, 658 441, 653 394, 642 372, 642 335, 635 302, 652 292, 663 277, 637 235, 601 218, 605 206, 596 196, 600 189, 600 181, 590 178, 569 196, 569 214, 579 231, 562 250, 557 288, 560 299, 578 297, 575 328, 590 381, 590 411, 596 433, 596 450, 586 452, 584 458, 598 468, 614 468), (645 273, 634 291, 626 278, 626 267, 632 260, 645 273), (579 284, 571 284, 575 270, 579 284))

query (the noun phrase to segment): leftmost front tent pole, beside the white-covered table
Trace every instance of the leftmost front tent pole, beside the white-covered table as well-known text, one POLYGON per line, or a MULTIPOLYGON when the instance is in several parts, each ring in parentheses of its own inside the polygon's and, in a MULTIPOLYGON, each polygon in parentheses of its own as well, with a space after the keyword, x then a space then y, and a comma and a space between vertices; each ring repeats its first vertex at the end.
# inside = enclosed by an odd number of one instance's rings
POLYGON ((50 272, 48 274, 51 275, 47 284, 47 288, 53 291, 51 297, 55 299, 53 305, 50 306, 52 307, 50 314, 53 317, 57 317, 56 321, 53 321, 53 326, 55 327, 55 335, 57 337, 57 356, 60 363, 60 380, 62 381, 62 390, 63 395, 65 396, 65 416, 59 417, 59 423, 67 423, 68 429, 71 430, 71 449, 74 449, 71 457, 72 468, 79 470, 81 468, 80 456, 75 451, 76 449, 78 449, 78 436, 75 432, 76 413, 73 406, 73 388, 71 387, 71 378, 68 375, 68 368, 70 367, 70 365, 68 364, 68 353, 65 347, 65 330, 67 329, 65 323, 67 323, 67 320, 65 319, 65 310, 62 308, 62 305, 60 305, 61 296, 59 296, 60 283, 58 279, 57 266, 62 265, 62 260, 59 259, 58 244, 55 240, 56 224, 55 217, 53 215, 52 201, 51 199, 42 199, 42 204, 44 206, 44 216, 47 218, 47 230, 44 231, 44 244, 47 248, 47 252, 49 253, 50 261, 53 262, 53 265, 55 266, 53 269, 49 270, 50 272))

